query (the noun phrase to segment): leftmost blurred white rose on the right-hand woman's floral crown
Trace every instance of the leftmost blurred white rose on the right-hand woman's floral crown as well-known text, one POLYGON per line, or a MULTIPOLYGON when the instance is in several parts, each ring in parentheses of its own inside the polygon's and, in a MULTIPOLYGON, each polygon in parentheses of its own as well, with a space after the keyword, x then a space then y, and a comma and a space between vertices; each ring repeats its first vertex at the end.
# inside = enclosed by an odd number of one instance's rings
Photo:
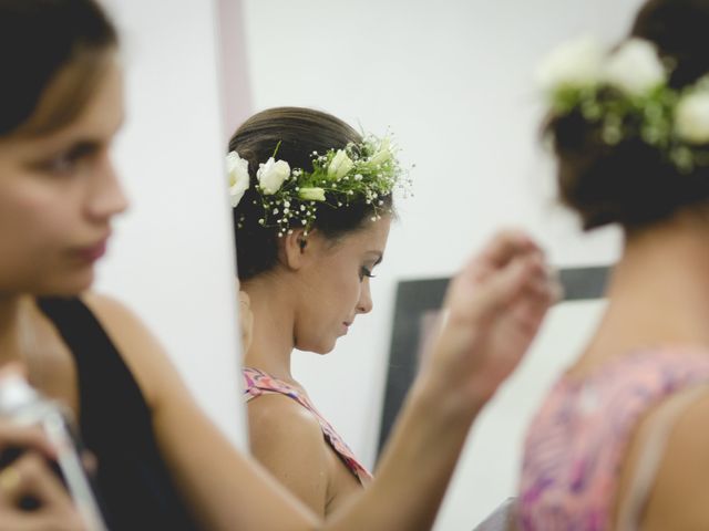
POLYGON ((604 49, 589 35, 575 39, 554 50, 536 71, 543 91, 554 93, 559 87, 595 85, 600 80, 604 49))

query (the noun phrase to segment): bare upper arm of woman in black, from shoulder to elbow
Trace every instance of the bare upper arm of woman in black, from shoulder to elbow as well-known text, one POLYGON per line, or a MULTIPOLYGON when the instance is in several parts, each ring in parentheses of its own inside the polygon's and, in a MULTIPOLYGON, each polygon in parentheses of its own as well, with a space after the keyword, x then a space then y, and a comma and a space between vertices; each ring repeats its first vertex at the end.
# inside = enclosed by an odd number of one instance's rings
POLYGON ((86 303, 143 389, 163 458, 205 529, 317 529, 317 517, 255 460, 238 452, 204 415, 161 346, 131 312, 103 296, 90 295, 86 303))

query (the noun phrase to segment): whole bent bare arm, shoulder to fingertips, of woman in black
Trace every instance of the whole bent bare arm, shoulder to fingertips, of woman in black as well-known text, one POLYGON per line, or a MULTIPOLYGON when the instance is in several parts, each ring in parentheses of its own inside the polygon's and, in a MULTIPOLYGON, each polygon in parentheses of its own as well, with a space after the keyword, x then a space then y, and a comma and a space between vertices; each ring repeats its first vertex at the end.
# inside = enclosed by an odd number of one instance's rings
POLYGON ((163 455, 207 529, 391 531, 430 529, 472 421, 520 362, 551 298, 541 253, 521 235, 500 236, 464 268, 377 479, 326 523, 232 447, 135 317, 112 301, 88 302, 148 396, 163 455))

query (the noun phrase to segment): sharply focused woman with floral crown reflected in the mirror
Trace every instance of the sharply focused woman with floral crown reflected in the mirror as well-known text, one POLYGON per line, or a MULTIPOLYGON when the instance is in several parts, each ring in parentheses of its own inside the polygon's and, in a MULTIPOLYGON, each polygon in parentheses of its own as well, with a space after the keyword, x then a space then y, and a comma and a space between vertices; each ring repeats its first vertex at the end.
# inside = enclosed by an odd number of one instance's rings
POLYGON ((294 348, 330 352, 372 310, 370 282, 408 187, 387 138, 298 107, 251 116, 229 143, 238 275, 250 301, 245 357, 251 450, 319 514, 372 476, 294 378, 294 348))

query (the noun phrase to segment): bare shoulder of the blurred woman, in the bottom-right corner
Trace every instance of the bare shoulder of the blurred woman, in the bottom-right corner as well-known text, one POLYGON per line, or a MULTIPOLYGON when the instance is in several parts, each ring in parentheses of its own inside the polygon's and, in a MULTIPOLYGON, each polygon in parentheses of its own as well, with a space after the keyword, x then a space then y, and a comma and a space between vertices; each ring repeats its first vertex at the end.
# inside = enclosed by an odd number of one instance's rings
POLYGON ((643 529, 709 529, 709 384, 682 389, 644 416, 626 454, 620 499, 643 488, 654 457, 643 529))

